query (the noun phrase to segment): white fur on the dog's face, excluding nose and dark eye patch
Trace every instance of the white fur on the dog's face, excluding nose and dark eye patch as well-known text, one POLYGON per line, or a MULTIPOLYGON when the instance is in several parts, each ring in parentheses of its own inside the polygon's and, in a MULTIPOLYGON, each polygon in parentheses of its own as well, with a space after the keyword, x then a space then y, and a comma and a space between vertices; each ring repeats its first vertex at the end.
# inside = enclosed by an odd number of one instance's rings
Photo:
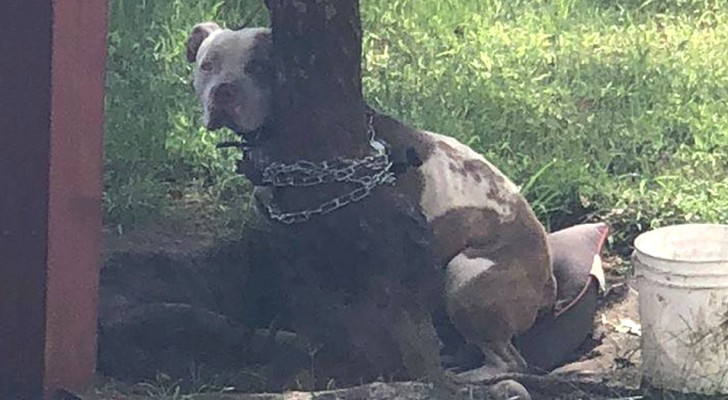
POLYGON ((194 71, 194 87, 203 106, 203 121, 209 126, 212 91, 221 83, 235 83, 240 89, 238 103, 240 112, 235 122, 242 132, 259 128, 270 113, 271 88, 261 87, 245 71, 257 35, 269 33, 267 28, 241 30, 218 29, 210 33, 197 51, 194 71), (200 66, 210 62, 211 71, 200 66))

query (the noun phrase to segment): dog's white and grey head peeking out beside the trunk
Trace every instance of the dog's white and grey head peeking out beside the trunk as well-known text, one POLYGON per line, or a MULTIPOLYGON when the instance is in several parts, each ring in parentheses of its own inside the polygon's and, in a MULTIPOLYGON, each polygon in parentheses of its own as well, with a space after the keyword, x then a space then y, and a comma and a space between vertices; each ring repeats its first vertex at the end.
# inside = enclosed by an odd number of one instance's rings
POLYGON ((238 134, 265 124, 271 108, 274 72, 267 28, 222 29, 214 22, 194 26, 187 61, 194 63, 194 87, 207 129, 238 134))

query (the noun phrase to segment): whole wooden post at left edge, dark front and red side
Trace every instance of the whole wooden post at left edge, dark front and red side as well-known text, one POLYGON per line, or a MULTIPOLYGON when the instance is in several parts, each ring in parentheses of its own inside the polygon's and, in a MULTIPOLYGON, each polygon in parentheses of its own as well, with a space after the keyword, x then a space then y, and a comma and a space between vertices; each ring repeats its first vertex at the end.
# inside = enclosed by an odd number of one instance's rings
POLYGON ((0 4, 2 399, 93 377, 106 3, 0 4))

